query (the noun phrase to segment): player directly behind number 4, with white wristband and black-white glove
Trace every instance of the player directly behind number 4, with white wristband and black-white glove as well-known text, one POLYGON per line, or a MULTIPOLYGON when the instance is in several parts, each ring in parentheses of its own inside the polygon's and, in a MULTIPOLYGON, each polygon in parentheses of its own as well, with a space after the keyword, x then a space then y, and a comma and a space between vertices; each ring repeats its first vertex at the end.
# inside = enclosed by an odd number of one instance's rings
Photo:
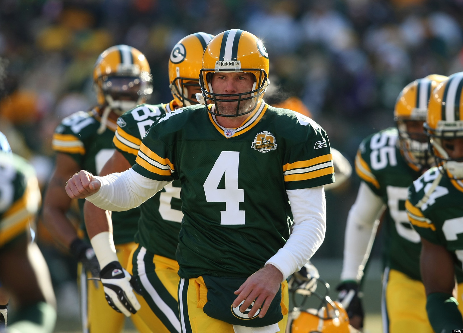
MULTIPOLYGON (((118 119, 113 138, 116 151, 103 167, 101 175, 130 169, 135 164, 141 140, 151 124, 178 107, 198 103, 195 94, 201 91, 198 77, 202 54, 211 38, 212 35, 197 32, 182 38, 174 46, 169 58, 169 81, 174 99, 167 104, 139 105, 118 119)), ((180 332, 177 303, 180 277, 175 260, 183 218, 180 207, 179 180, 170 183, 140 206, 141 215, 135 235, 138 247, 131 256, 129 266, 133 268, 129 272, 140 282, 142 295, 149 305, 142 307, 137 314, 153 332, 180 332)), ((105 262, 105 258, 99 256, 102 252, 99 249, 105 244, 100 239, 105 239, 107 243, 107 239, 112 238, 109 232, 111 223, 106 220, 109 214, 89 201, 85 203, 84 211, 88 235, 103 267, 101 277, 104 279, 104 272, 115 268, 122 270, 119 263, 105 262)), ((109 282, 103 284, 109 288, 109 282)), ((131 314, 123 304, 118 310, 126 315, 131 314)), ((132 309, 132 312, 135 310, 132 309)))

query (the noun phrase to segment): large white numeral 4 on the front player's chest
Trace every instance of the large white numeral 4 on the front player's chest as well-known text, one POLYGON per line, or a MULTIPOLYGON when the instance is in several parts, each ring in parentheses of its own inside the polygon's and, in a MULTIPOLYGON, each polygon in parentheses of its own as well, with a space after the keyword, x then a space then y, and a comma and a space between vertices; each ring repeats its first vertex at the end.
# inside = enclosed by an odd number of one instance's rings
POLYGON ((220 211, 220 224, 245 224, 244 210, 239 203, 244 202, 244 190, 238 188, 239 151, 222 151, 204 182, 207 202, 225 202, 226 210, 220 211), (219 188, 225 173, 225 188, 219 188))

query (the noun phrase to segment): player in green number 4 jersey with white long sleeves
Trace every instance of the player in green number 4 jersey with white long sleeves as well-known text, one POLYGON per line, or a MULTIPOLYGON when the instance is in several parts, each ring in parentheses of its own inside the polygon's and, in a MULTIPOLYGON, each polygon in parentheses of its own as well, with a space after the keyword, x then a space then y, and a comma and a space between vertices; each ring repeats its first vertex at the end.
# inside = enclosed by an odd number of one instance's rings
POLYGON ((82 170, 66 187, 70 197, 124 210, 181 181, 182 332, 283 331, 286 278, 324 239, 323 185, 334 181, 328 138, 312 119, 263 102, 268 58, 247 31, 215 36, 197 95, 207 104, 158 119, 131 169, 97 178, 82 170))

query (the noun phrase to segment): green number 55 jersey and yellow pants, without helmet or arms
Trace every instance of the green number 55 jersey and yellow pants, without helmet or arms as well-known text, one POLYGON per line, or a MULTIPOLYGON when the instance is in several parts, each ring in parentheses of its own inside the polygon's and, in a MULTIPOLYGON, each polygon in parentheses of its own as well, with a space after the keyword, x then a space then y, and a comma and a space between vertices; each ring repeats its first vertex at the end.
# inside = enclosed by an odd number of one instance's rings
MULTIPOLYGON (((384 231, 382 316, 383 331, 432 332, 426 314, 426 295, 421 282, 421 242, 405 209, 408 186, 420 173, 408 164, 397 145, 398 131, 388 128, 370 135, 360 144, 357 175, 387 205, 384 231)), ((458 281, 463 281, 459 276, 458 281)))

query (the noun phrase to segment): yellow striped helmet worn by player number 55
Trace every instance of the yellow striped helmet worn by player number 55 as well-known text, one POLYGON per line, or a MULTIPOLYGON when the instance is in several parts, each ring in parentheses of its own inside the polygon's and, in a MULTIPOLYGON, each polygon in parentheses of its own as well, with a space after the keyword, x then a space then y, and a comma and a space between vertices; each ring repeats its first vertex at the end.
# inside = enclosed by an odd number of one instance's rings
POLYGON ((394 107, 394 120, 399 130, 399 145, 408 165, 414 170, 428 169, 434 159, 428 151, 428 140, 423 134, 409 132, 407 124, 421 128, 426 120, 427 106, 431 92, 438 84, 447 79, 444 75, 428 75, 409 84, 399 94, 394 107))

